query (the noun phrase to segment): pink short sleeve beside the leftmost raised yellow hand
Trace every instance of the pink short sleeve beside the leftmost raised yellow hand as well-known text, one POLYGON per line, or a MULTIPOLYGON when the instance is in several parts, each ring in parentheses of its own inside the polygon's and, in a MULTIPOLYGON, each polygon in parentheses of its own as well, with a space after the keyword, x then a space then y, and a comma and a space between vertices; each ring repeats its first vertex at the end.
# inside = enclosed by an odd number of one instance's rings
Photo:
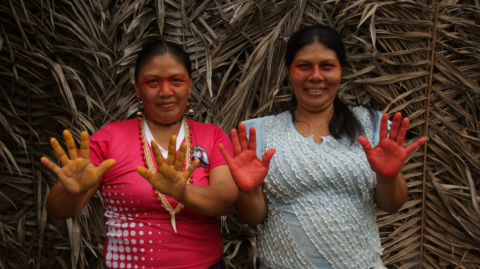
MULTIPOLYGON (((112 137, 112 128, 110 125, 103 127, 102 129, 95 132, 89 138, 90 146, 90 161, 95 165, 99 166, 107 158, 107 152, 110 145, 112 137)), ((100 179, 103 181, 103 176, 100 179)))

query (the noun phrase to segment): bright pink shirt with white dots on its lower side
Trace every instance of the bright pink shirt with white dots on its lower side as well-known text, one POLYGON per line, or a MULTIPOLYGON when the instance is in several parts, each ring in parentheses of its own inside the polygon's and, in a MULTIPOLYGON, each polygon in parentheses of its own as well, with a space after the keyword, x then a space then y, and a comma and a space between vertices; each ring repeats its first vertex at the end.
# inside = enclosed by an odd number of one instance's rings
MULTIPOLYGON (((152 186, 137 173, 136 167, 144 166, 138 122, 135 118, 110 123, 90 137, 92 163, 116 160, 103 176, 100 189, 105 201, 107 268, 207 268, 215 264, 223 248, 218 219, 185 208, 176 216, 175 234, 170 215, 161 208, 152 186)), ((193 184, 207 186, 210 170, 226 165, 218 143, 231 155, 233 148, 219 127, 189 123, 192 144, 203 147, 210 162, 195 169, 193 184)), ((177 202, 167 198, 175 208, 177 202)))

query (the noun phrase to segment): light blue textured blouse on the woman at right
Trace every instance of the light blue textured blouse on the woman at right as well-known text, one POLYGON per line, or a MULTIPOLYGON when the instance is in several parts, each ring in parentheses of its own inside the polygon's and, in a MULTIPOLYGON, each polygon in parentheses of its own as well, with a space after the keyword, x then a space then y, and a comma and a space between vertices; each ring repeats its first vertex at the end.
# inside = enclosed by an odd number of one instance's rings
MULTIPOLYGON (((366 108, 351 110, 372 146, 377 123, 366 108), (374 130, 374 126, 376 127, 374 130)), ((361 145, 323 137, 317 145, 294 128, 290 112, 244 122, 257 134, 257 155, 276 150, 265 179, 268 215, 259 243, 262 265, 270 268, 381 267, 375 222, 375 173, 361 145)))

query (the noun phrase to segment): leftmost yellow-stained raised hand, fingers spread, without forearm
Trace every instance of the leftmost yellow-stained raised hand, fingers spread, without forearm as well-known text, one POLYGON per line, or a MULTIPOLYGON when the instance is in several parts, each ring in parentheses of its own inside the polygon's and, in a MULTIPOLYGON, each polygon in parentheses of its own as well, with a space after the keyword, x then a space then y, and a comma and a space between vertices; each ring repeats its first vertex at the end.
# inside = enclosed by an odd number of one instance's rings
POLYGON ((100 177, 115 164, 115 160, 105 160, 98 167, 91 163, 87 132, 80 134, 80 156, 77 154, 77 146, 70 131, 63 131, 63 138, 67 146, 68 156, 65 151, 63 151, 57 139, 50 139, 50 145, 55 155, 57 155, 62 168, 46 157, 42 157, 40 161, 57 175, 68 193, 73 195, 86 193, 94 187, 99 182, 100 177))

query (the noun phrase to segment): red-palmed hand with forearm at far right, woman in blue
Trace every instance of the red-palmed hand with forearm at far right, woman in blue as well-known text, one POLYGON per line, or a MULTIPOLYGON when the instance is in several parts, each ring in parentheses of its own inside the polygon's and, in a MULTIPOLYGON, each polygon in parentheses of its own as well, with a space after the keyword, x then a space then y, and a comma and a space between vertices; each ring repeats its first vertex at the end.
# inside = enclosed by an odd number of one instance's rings
POLYGON ((368 139, 358 137, 367 155, 368 163, 377 174, 375 188, 375 204, 378 208, 389 213, 396 212, 407 199, 407 183, 400 173, 403 163, 412 151, 420 147, 424 138, 420 138, 406 148, 403 147, 405 134, 409 124, 408 118, 401 121, 402 115, 398 112, 393 117, 392 126, 388 131, 388 116, 384 114, 380 123, 380 141, 372 148, 368 139), (401 124, 400 124, 401 122, 401 124))

